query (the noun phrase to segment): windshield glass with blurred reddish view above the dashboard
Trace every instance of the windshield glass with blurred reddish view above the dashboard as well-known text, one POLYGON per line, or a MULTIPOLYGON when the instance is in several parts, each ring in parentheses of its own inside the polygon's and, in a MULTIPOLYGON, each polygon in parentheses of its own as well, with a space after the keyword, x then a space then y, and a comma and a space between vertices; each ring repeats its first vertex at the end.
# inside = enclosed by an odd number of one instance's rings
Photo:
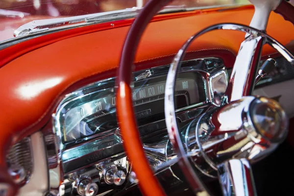
MULTIPOLYGON (((143 7, 148 0, 0 0, 0 42, 33 20, 81 16, 143 7)), ((248 4, 247 0, 174 0, 170 5, 203 7, 248 4)))

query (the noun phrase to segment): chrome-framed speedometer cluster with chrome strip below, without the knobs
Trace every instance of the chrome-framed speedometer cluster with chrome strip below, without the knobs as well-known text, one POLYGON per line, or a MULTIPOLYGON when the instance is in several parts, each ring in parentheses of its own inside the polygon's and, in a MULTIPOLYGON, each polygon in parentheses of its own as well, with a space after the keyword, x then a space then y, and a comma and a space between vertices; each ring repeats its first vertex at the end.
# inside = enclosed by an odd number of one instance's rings
MULTIPOLYGON (((164 94, 169 65, 134 73, 132 99, 143 142, 155 142, 167 134, 164 94)), ((188 123, 225 100, 226 69, 218 58, 183 61, 175 84, 175 108, 179 125, 188 123)), ((65 96, 53 115, 58 155, 63 172, 123 153, 116 116, 115 78, 87 85, 65 96), (78 163, 78 164, 77 164, 78 163)))

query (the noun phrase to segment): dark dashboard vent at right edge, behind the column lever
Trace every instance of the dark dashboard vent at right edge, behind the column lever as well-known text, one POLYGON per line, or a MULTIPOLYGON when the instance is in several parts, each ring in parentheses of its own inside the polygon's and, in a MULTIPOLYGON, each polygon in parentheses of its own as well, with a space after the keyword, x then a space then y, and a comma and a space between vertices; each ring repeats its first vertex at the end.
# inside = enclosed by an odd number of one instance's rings
MULTIPOLYGON (((282 82, 290 79, 294 79, 294 67, 284 57, 274 58, 277 62, 276 68, 266 78, 261 79, 256 86, 266 86, 269 84, 282 82)), ((264 61, 260 62, 260 66, 264 61)))

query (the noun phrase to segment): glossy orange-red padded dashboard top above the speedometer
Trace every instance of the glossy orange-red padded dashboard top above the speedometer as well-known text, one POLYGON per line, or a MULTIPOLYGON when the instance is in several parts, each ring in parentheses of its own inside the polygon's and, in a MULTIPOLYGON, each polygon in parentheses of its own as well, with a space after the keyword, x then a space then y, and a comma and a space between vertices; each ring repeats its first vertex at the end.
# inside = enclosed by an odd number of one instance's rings
MULTIPOLYGON (((246 6, 178 16, 170 14, 155 20, 139 44, 136 64, 140 67, 137 69, 170 63, 180 46, 208 25, 224 22, 248 25, 253 11, 252 6, 246 6)), ((11 142, 48 123, 62 96, 89 82, 115 75, 131 22, 57 32, 0 51, 1 168, 5 168, 5 152, 11 142)), ((293 30, 291 23, 271 14, 268 33, 272 37, 286 45, 294 39, 293 30)), ((244 34, 215 31, 202 36, 190 52, 194 57, 222 57, 226 66, 231 67, 243 39, 244 34)), ((265 47, 263 55, 273 52, 265 47)))

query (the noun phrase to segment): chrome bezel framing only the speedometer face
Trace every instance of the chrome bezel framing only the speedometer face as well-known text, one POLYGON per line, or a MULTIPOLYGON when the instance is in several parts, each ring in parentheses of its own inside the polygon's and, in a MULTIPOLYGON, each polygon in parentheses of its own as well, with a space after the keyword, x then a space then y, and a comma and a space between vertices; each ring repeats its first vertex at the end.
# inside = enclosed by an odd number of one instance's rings
MULTIPOLYGON (((189 61, 190 62, 191 61, 197 62, 199 60, 207 60, 207 59, 211 59, 214 61, 219 60, 218 58, 211 57, 211 58, 205 58, 205 59, 194 59, 194 60, 189 60, 189 61)), ((169 69, 169 65, 156 67, 156 68, 150 68, 148 70, 143 70, 143 71, 139 71, 139 72, 134 73, 134 78, 137 80, 136 82, 139 82, 139 81, 154 79, 157 77, 162 77, 167 74, 168 69, 169 69), (149 74, 145 74, 145 73, 149 73, 149 74)), ((213 69, 213 68, 211 68, 211 69, 213 69)), ((209 78, 210 73, 207 71, 202 70, 202 68, 199 69, 199 68, 197 68, 197 66, 183 67, 180 70, 180 73, 185 73, 185 72, 186 73, 187 72, 201 73, 203 81, 204 81, 204 90, 205 90, 205 96, 206 96, 206 98, 205 98, 206 100, 203 100, 201 102, 207 102, 207 101, 213 102, 212 98, 214 97, 213 95, 211 95, 211 92, 209 92, 209 90, 211 91, 211 88, 209 87, 209 83, 211 82, 211 78, 209 78), (209 80, 208 80, 208 78, 209 78, 209 80)), ((221 71, 220 73, 223 73, 223 72, 224 71, 221 71)), ((220 74, 220 73, 218 73, 218 74, 220 74)), ((94 94, 96 97, 101 97, 103 95, 108 95, 108 94, 114 93, 114 86, 115 86, 115 78, 113 77, 113 78, 108 78, 108 79, 87 85, 87 86, 85 86, 81 89, 78 89, 77 91, 65 96, 65 98, 61 101, 61 103, 57 107, 55 120, 54 120, 56 134, 60 137, 61 141, 64 141, 64 138, 65 138, 65 134, 63 134, 63 132, 64 132, 63 129, 65 127, 64 126, 65 124, 64 124, 64 120, 62 118, 68 112, 66 109, 67 105, 69 105, 69 103, 72 104, 76 100, 80 100, 81 98, 85 98, 85 97, 88 97, 88 96, 91 96, 94 94)), ((199 103, 196 103, 194 105, 190 105, 190 106, 188 106, 187 109, 196 107, 198 105, 199 105, 199 103)), ((180 109, 178 109, 178 112, 184 111, 185 109, 186 108, 180 108, 180 109)), ((114 131, 115 131, 115 129, 107 130, 106 132, 114 132, 114 131)), ((74 142, 72 142, 72 144, 69 144, 69 145, 66 144, 65 146, 73 147, 79 143, 83 143, 88 140, 92 140, 93 138, 96 138, 99 135, 105 135, 105 132, 77 139, 74 142)), ((64 143, 64 142, 62 142, 62 143, 64 143)), ((71 142, 69 142, 69 143, 71 143, 71 142)))

